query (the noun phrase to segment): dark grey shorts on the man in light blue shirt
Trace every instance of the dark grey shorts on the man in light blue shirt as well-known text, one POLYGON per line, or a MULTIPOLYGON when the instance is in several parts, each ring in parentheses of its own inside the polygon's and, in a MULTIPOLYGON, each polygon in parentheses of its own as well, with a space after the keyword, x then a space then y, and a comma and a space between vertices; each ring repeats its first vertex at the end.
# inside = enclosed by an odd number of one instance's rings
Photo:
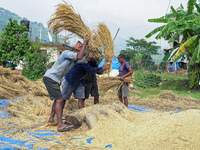
POLYGON ((62 93, 60 91, 60 85, 58 82, 48 77, 44 77, 43 81, 47 88, 47 91, 49 93, 51 100, 63 99, 62 93))

